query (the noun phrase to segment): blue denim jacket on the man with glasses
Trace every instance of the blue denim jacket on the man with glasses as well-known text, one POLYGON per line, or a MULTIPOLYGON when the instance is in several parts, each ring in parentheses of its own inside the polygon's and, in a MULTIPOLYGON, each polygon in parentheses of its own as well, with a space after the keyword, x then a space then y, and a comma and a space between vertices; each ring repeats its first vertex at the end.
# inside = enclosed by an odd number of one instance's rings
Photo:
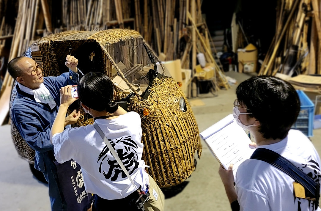
POLYGON ((48 151, 53 152, 54 149, 50 143, 50 130, 60 105, 59 90, 66 85, 76 85, 79 75, 69 70, 69 74, 44 77, 43 80, 56 102, 56 107, 50 109, 48 104, 36 102, 33 95, 22 92, 17 86, 17 96, 13 101, 11 113, 13 124, 20 135, 36 151, 35 168, 45 172, 44 154, 48 151))

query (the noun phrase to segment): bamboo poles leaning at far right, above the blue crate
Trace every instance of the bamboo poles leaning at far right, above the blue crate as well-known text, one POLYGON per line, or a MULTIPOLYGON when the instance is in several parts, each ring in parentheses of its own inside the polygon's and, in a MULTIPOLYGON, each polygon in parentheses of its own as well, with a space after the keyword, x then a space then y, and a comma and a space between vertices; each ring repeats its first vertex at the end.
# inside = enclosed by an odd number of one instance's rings
POLYGON ((276 33, 259 75, 321 74, 320 6, 317 0, 278 1, 276 33))

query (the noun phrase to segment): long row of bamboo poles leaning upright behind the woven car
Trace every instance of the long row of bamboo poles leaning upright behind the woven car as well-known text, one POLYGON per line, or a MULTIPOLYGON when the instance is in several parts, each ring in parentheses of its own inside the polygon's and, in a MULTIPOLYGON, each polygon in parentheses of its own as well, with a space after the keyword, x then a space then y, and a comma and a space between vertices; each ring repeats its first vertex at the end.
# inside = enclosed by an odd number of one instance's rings
MULTIPOLYGON (((9 0, 2 0, 9 1, 9 0)), ((100 31, 135 29, 162 56, 162 61, 182 60, 182 68, 195 70, 196 52, 215 65, 215 89, 229 84, 216 64, 202 18, 201 0, 18 0, 13 41, 8 61, 21 56, 38 38, 67 30, 100 31), (191 54, 191 55, 190 55, 191 54)), ((0 17, 9 11, 0 10, 0 17)), ((213 41, 212 41, 213 44, 213 41)), ((194 71, 192 71, 193 73, 194 71)), ((192 75, 193 78, 193 75, 192 75)), ((0 91, 0 123, 7 110, 13 79, 7 73, 0 91), (5 94, 5 97, 2 97, 5 94)), ((196 83, 192 81, 193 96, 196 83)))

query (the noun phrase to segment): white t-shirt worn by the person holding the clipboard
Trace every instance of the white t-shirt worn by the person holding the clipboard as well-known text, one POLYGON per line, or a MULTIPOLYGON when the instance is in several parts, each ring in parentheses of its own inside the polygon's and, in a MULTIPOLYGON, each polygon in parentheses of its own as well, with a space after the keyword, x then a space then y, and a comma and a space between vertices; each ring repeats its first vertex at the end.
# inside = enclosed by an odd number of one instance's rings
MULTIPOLYGON (((290 130, 282 141, 257 148, 270 149, 291 161, 320 184, 320 157, 311 141, 298 130, 290 130)), ((236 173, 240 211, 314 211, 313 201, 293 195, 294 180, 271 164, 248 159, 236 173)))

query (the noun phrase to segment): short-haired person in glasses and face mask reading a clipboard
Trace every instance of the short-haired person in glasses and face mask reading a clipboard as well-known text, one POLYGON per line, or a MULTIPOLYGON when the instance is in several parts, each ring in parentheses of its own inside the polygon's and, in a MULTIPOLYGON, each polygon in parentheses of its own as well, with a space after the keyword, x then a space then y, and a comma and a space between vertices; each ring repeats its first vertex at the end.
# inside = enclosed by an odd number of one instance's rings
MULTIPOLYGON (((303 133, 290 129, 300 111, 299 96, 293 86, 280 78, 263 75, 239 84, 236 95, 234 118, 239 126, 250 131, 257 152, 262 153, 259 149, 265 148, 283 156, 320 185, 321 162, 316 149, 303 133)), ((295 180, 271 163, 244 161, 236 173, 235 187, 232 168, 231 165, 225 170, 220 166, 219 174, 233 211, 321 210, 316 201, 296 197, 295 180)))

